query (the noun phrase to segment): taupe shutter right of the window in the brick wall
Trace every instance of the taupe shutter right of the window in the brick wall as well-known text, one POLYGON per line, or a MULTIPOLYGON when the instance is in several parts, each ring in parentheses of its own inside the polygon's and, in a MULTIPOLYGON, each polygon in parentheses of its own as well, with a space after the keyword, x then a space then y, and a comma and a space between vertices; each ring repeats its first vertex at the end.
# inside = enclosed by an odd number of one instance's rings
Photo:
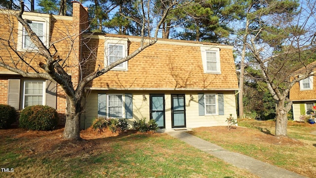
POLYGON ((46 80, 46 105, 57 107, 57 84, 50 80, 46 80))

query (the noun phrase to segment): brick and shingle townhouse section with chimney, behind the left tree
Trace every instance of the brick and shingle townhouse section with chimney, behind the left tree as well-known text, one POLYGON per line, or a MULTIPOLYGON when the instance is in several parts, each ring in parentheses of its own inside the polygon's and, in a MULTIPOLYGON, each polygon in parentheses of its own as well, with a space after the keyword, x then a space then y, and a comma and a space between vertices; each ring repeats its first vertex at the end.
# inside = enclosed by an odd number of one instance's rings
MULTIPOLYGON (((28 72, 42 71, 39 67, 43 57, 38 55, 38 49, 30 41, 23 26, 13 15, 13 10, 0 9, 0 59, 6 63, 15 63, 18 68, 28 72), (17 53, 10 50, 8 44, 17 49, 17 53), (19 56, 30 63, 31 67, 22 64, 19 56), (10 58, 14 61, 9 61, 10 58), (19 62, 20 61, 20 62, 19 62)), ((79 34, 87 28, 88 15, 81 3, 73 1, 73 17, 24 12, 23 18, 29 23, 44 45, 50 47, 51 52, 57 49, 62 59, 67 59, 65 70, 71 74, 72 82, 76 86, 79 80, 78 56, 80 56, 79 34), (79 38, 78 38, 79 36, 79 38), (63 39, 63 40, 62 40, 63 39)), ((56 108, 60 124, 65 124, 66 95, 59 85, 44 79, 24 78, 17 73, 0 67, 0 103, 9 104, 17 110, 31 105, 48 105, 56 108)))

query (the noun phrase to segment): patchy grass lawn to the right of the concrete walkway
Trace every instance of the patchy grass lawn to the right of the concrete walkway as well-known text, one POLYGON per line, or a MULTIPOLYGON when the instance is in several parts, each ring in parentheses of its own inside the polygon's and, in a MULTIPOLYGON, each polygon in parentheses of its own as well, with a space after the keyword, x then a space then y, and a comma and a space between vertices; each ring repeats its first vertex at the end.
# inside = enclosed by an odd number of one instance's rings
POLYGON ((316 177, 316 127, 295 125, 287 127, 287 135, 293 143, 283 144, 285 138, 276 138, 272 121, 242 120, 238 126, 249 128, 234 131, 212 132, 212 128, 192 134, 225 149, 239 152, 263 162, 296 172, 307 177, 316 177), (247 132, 246 132, 247 131, 247 132), (244 133, 246 132, 246 133, 244 133))

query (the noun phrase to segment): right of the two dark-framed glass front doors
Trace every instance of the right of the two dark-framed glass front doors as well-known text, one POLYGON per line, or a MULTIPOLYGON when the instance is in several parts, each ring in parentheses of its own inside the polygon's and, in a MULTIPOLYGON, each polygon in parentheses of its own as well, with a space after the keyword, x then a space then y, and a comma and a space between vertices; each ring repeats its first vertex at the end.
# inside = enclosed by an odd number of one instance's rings
POLYGON ((172 128, 186 127, 186 105, 184 94, 171 94, 172 128))

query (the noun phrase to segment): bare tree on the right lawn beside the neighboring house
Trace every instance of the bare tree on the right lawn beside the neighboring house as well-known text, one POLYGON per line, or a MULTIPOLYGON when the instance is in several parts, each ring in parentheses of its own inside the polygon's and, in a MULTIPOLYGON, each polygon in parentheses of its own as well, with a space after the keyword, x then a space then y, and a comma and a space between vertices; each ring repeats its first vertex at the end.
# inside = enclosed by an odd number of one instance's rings
POLYGON ((276 136, 287 135, 287 113, 292 106, 289 90, 295 83, 314 75, 316 67, 315 63, 309 64, 316 50, 313 41, 316 2, 304 2, 265 1, 261 4, 265 8, 252 14, 253 25, 249 26, 244 41, 276 100, 276 136))

